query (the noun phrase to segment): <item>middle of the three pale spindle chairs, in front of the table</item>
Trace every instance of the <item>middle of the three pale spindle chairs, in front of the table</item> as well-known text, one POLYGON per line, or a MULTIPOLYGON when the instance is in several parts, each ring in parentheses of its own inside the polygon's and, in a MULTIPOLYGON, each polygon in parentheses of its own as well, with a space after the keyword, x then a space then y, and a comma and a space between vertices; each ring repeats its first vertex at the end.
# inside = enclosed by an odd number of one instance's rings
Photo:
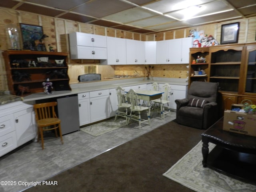
POLYGON ((148 121, 148 124, 150 125, 150 108, 140 105, 140 100, 138 99, 138 95, 133 89, 131 89, 128 92, 128 97, 130 98, 130 102, 131 102, 131 112, 130 112, 130 115, 128 116, 128 123, 131 119, 133 119, 139 122, 139 128, 140 128, 140 124, 146 121, 148 121), (147 119, 141 118, 142 111, 147 112, 147 117, 148 117, 147 119))

